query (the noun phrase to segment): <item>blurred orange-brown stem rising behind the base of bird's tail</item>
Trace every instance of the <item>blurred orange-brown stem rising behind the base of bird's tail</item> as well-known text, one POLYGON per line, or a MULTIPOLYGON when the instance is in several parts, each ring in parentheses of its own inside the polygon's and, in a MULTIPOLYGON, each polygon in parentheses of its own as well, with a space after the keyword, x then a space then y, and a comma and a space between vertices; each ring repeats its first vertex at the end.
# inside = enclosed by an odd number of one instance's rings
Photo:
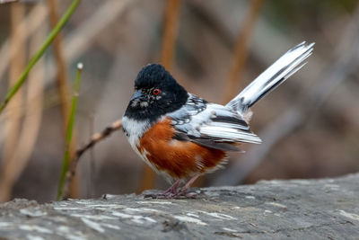
POLYGON ((229 102, 237 94, 238 78, 243 72, 243 67, 245 66, 248 57, 250 35, 264 2, 264 0, 251 0, 250 8, 244 19, 243 25, 241 26, 240 34, 238 35, 232 59, 232 66, 226 81, 224 92, 225 102, 229 102))

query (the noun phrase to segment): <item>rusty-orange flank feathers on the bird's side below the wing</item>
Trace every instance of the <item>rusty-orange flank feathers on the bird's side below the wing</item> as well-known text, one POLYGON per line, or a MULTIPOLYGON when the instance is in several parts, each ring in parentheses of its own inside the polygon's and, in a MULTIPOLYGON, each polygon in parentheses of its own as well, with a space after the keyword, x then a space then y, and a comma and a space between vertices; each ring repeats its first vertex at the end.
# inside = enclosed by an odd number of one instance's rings
POLYGON ((159 171, 173 178, 187 178, 214 169, 226 156, 223 150, 202 147, 190 141, 173 139, 171 119, 157 122, 140 139, 138 151, 159 171))

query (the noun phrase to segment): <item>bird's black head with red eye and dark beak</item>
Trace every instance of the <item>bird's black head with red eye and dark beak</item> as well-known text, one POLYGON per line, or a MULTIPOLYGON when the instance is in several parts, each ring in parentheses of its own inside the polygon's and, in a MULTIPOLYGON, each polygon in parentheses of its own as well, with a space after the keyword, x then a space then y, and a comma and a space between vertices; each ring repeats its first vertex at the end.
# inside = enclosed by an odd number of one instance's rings
POLYGON ((135 80, 135 93, 125 116, 135 120, 154 121, 180 109, 188 99, 187 91, 159 64, 141 69, 135 80))

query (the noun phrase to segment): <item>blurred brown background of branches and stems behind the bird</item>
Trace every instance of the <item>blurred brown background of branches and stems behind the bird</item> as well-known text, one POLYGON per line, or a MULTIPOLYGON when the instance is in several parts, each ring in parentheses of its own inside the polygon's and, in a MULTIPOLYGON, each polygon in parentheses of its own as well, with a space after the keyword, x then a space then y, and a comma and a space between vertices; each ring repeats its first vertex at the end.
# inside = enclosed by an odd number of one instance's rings
MULTIPOLYGON (((1 100, 70 4, 0 4, 1 100)), ((243 146, 245 154, 231 154, 225 169, 196 184, 358 172, 357 0, 86 0, 0 115, 0 200, 56 199, 77 62, 73 149, 122 117, 148 63, 224 103, 303 40, 316 42, 308 64, 252 109, 251 129, 264 143, 243 146)), ((82 156, 71 197, 166 187, 118 130, 82 156)))

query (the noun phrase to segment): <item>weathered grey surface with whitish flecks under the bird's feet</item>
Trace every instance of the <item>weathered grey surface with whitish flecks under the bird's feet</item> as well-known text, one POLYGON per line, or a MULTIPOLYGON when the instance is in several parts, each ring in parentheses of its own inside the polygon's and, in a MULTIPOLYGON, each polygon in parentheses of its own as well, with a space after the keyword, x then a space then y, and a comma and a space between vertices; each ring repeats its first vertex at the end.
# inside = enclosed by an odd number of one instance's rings
POLYGON ((206 188, 197 199, 0 205, 0 239, 359 239, 359 174, 206 188))

